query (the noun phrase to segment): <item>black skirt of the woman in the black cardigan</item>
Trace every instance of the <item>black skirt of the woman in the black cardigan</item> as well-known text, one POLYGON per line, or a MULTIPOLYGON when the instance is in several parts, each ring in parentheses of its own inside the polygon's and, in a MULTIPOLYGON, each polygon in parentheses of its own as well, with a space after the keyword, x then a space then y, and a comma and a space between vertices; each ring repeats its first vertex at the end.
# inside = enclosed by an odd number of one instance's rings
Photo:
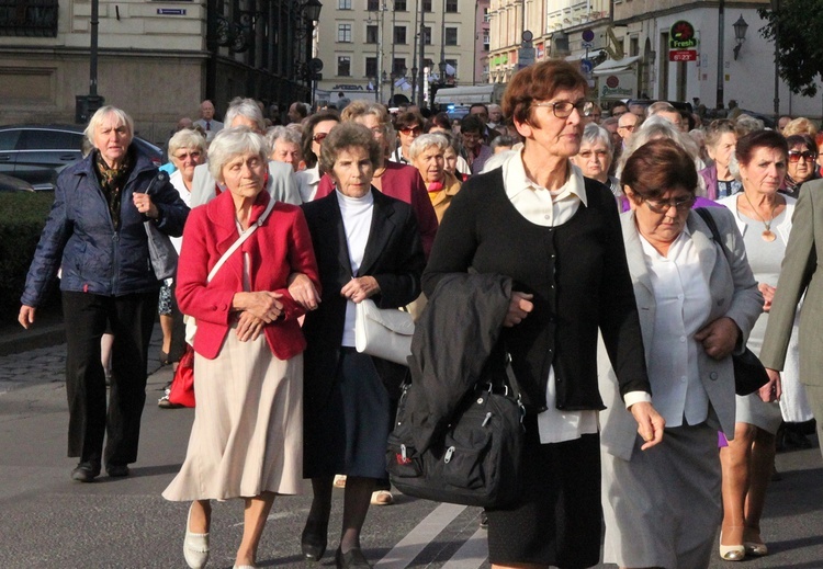
POLYGON ((526 418, 520 498, 488 509, 488 559, 564 569, 600 560, 600 436, 540 444, 537 417, 526 418))

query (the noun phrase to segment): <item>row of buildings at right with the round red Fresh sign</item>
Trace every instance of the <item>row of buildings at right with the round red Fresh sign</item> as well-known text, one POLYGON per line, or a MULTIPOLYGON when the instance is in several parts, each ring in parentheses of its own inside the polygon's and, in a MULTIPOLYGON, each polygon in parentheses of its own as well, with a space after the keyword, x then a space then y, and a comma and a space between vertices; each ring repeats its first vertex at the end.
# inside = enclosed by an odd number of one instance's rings
POLYGON ((699 100, 712 109, 734 99, 742 109, 764 115, 823 114, 819 99, 794 95, 779 78, 774 80, 774 44, 760 35, 766 22, 757 13, 769 0, 491 1, 488 82, 508 82, 531 61, 522 60, 523 55, 533 54, 534 60, 579 62, 594 98, 606 105, 652 98, 699 100), (734 24, 741 20, 747 31, 739 42, 734 24), (685 49, 673 41, 680 22, 695 36, 685 49), (522 50, 525 31, 533 36, 528 46, 533 52, 522 50))

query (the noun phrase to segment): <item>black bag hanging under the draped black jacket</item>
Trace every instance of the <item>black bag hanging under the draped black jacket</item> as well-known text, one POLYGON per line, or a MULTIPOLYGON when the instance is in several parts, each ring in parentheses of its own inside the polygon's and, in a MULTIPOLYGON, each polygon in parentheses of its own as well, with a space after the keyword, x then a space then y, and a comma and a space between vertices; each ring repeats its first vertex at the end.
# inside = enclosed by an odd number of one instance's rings
POLYGON ((415 448, 406 405, 409 390, 419 387, 407 383, 386 451, 386 470, 395 488, 407 496, 463 505, 514 502, 519 493, 523 407, 510 365, 507 376, 509 385, 503 388, 476 385, 444 432, 422 452, 415 448))

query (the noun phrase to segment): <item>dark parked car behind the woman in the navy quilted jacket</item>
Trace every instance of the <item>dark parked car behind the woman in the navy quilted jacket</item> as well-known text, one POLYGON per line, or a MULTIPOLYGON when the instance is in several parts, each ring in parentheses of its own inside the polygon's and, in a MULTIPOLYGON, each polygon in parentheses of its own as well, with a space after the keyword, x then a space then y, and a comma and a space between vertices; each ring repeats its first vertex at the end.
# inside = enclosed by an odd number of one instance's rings
MULTIPOLYGON (((0 126, 0 173, 24 180, 37 191, 53 191, 63 169, 83 157, 83 138, 80 125, 0 126)), ((151 143, 137 136, 134 143, 156 166, 166 161, 151 143)))

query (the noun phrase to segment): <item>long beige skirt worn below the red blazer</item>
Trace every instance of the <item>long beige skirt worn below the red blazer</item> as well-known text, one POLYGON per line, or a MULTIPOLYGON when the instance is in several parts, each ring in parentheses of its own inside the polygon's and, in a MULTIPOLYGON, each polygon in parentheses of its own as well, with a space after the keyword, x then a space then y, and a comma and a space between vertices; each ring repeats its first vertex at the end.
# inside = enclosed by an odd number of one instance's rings
POLYGON ((230 330, 214 360, 194 355, 194 424, 167 500, 303 492, 303 354, 278 360, 263 335, 230 330))

